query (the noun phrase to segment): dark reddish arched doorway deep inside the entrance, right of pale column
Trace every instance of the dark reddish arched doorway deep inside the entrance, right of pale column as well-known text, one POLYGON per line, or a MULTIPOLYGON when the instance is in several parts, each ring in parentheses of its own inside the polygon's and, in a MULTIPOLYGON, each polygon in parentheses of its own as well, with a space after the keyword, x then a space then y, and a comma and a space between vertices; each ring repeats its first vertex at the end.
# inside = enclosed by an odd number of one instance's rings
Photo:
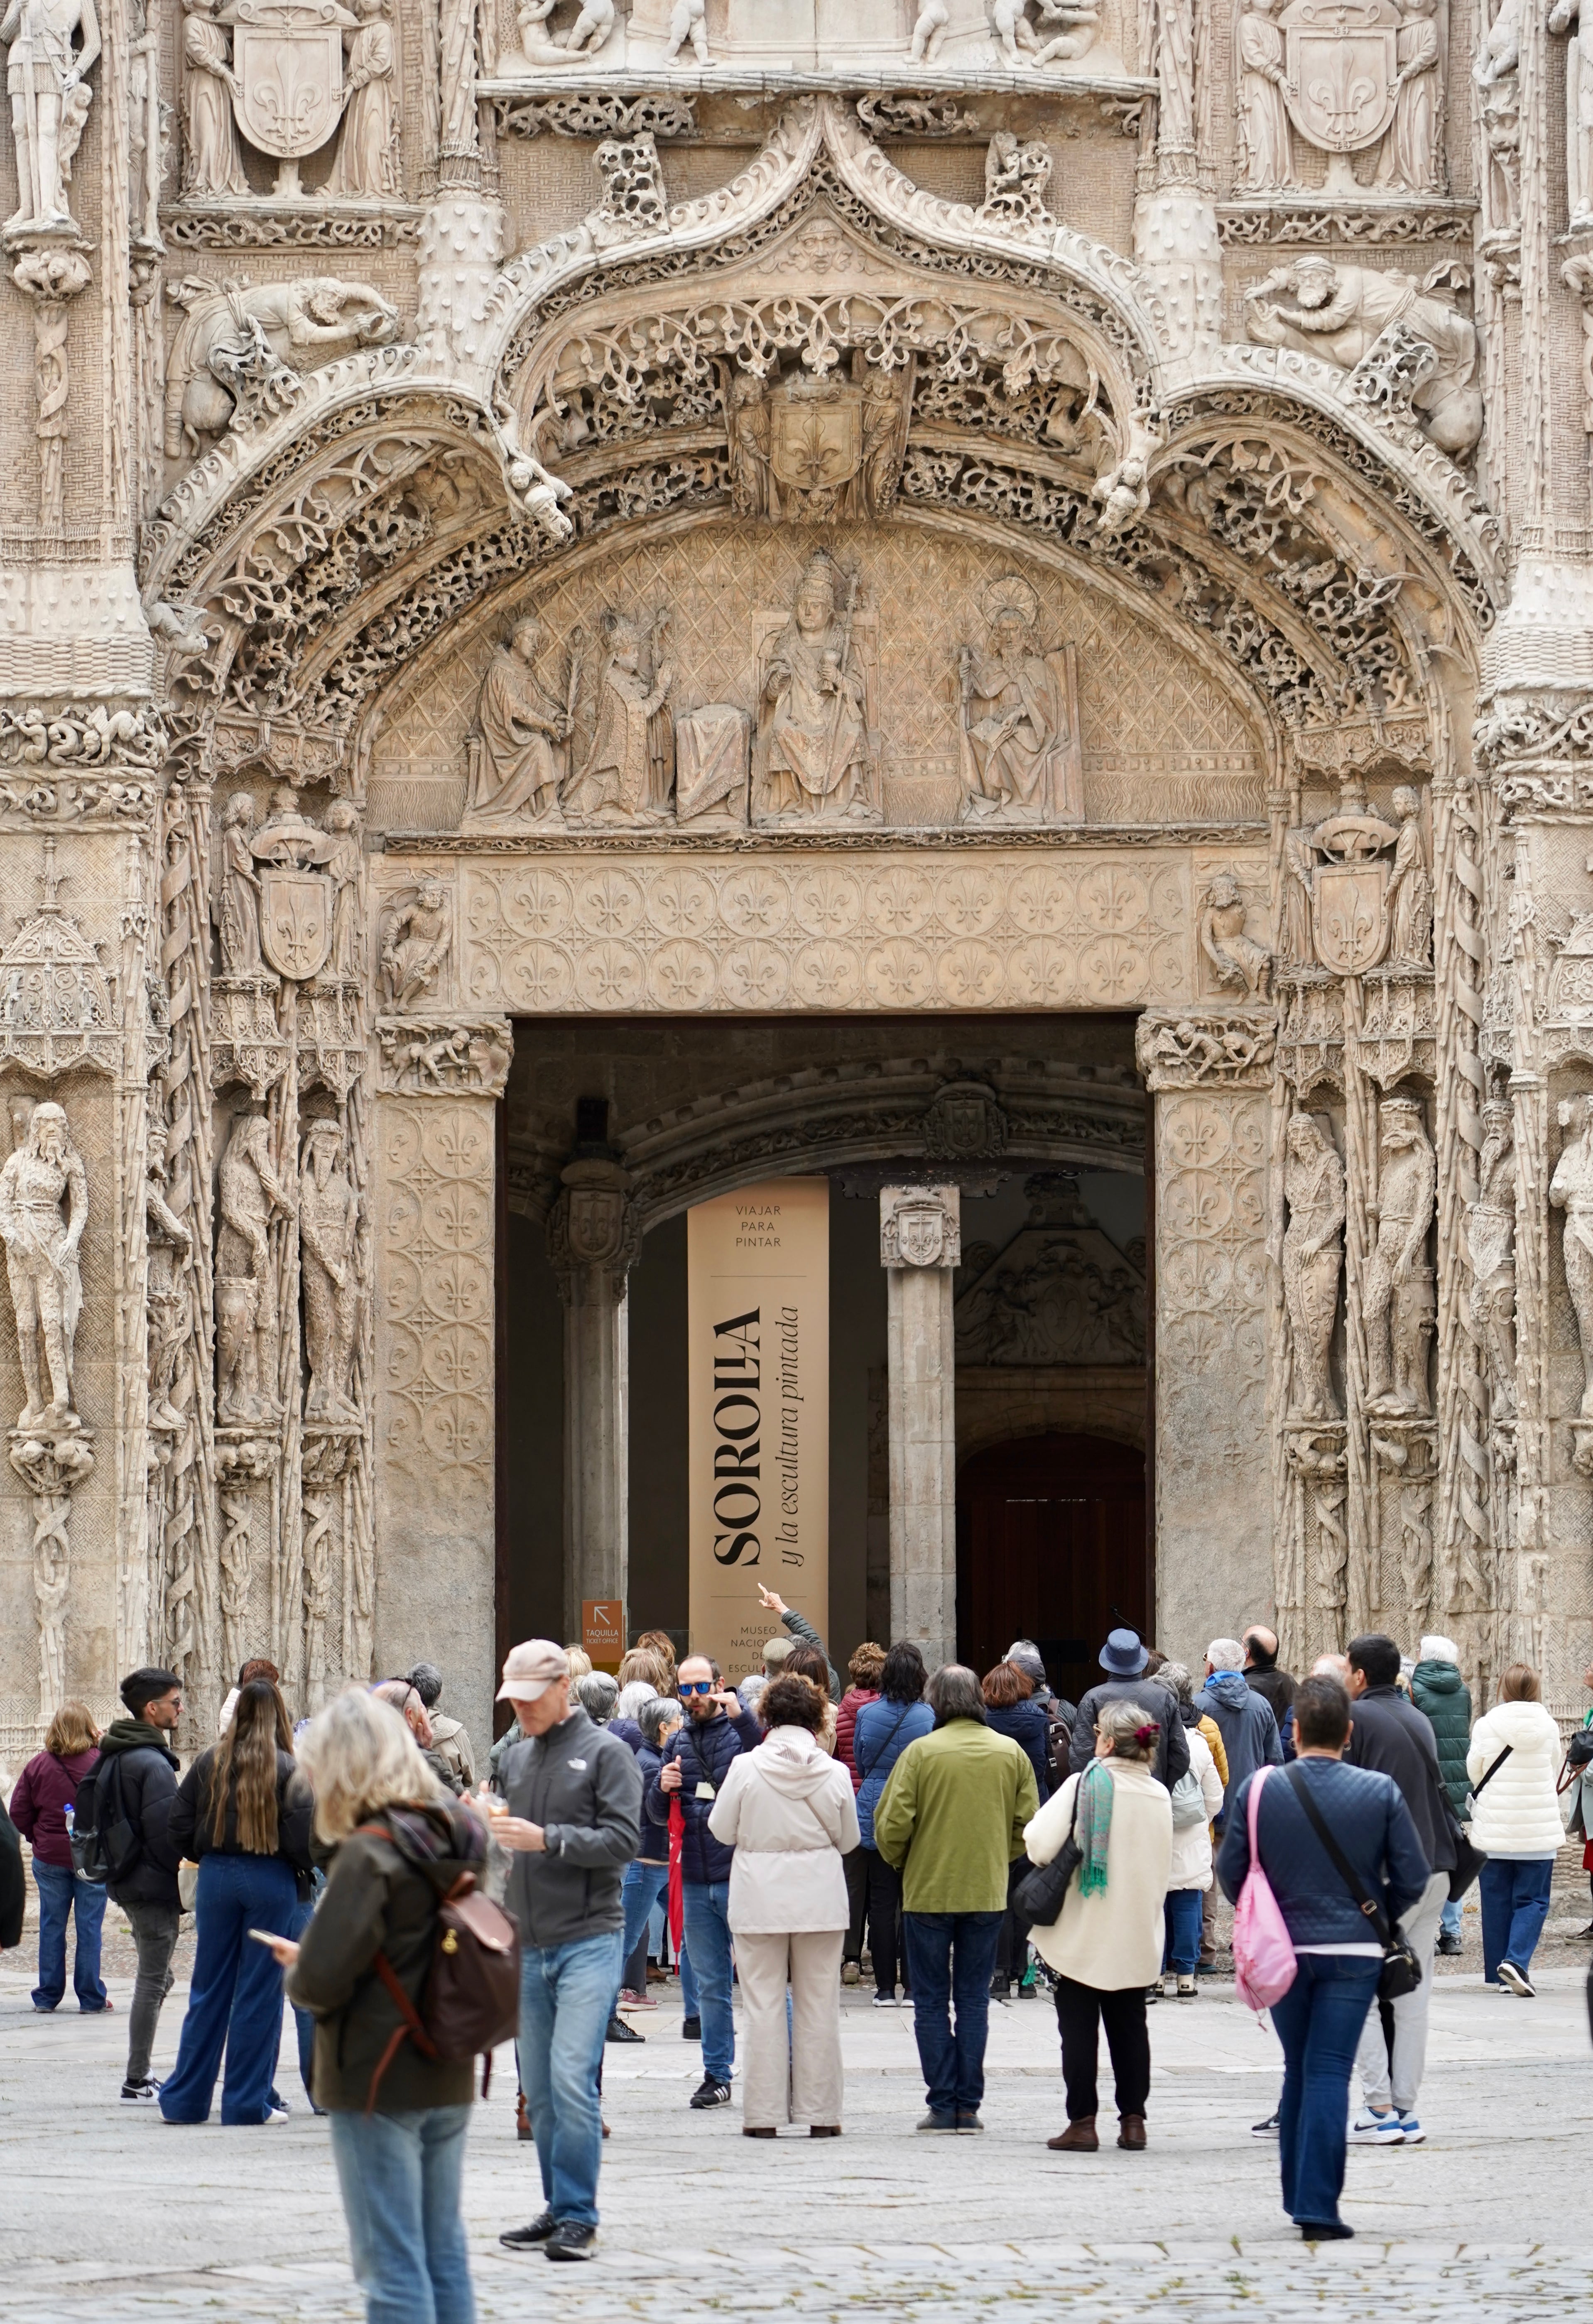
POLYGON ((1058 1694, 1102 1676, 1109 1629, 1144 1634, 1144 1455, 1107 1436, 1016 1436, 963 1462, 958 1657, 974 1671, 1035 1638, 1058 1694))

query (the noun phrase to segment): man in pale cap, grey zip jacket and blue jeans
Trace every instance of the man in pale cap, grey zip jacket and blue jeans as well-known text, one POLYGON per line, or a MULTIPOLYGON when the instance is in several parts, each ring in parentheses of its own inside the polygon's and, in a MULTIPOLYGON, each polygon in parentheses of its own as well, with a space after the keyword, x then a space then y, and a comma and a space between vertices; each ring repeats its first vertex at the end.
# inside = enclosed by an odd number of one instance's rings
POLYGON ((593 2259, 602 2036, 621 1978, 621 1882, 642 1834, 635 1757, 570 1703, 570 1662, 528 1638, 502 1666, 519 1741, 502 1755, 493 1836, 514 1850, 509 1910, 521 1931, 521 2087, 537 2138, 544 2210, 500 2243, 593 2259))

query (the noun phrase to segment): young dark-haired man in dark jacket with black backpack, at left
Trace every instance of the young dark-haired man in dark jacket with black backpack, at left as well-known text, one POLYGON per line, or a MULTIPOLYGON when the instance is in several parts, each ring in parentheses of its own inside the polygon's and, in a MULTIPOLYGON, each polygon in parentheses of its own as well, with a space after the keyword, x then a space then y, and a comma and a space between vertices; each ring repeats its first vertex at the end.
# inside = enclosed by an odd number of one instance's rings
MULTIPOLYGON (((128 2017, 128 2075, 121 2096, 128 2106, 153 2106, 160 2085, 149 2073, 160 2006, 172 1989, 172 1954, 181 1906, 177 1901, 177 1850, 167 1843, 172 1801, 177 1799, 177 1752, 172 1729, 181 1717, 181 1680, 174 1671, 130 1671, 121 1683, 126 1720, 114 1720, 100 1736, 100 1764, 93 1771, 93 1808, 77 1792, 77 1824, 112 1834, 126 1824, 133 1852, 107 1880, 112 1903, 133 1924, 137 1975, 133 1978, 133 2015, 128 2017)), ((112 1859, 116 1862, 116 1859, 112 1859)))

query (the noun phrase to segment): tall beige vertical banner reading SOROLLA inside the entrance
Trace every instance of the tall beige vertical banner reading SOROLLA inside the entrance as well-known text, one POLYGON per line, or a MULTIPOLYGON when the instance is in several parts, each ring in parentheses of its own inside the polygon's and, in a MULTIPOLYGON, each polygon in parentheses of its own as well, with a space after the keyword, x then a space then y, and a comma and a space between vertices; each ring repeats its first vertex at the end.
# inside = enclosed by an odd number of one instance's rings
POLYGON ((686 1215, 691 1645, 728 1683, 779 1631, 828 1638, 830 1181, 765 1178, 686 1215))

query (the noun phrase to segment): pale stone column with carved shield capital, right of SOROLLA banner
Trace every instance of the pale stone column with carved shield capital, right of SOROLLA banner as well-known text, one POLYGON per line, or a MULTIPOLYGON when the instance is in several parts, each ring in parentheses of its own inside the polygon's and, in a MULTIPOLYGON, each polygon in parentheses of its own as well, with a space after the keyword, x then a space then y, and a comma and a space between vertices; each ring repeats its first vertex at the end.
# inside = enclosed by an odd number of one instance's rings
POLYGON ((891 1636, 926 1664, 956 1659, 956 1353, 951 1269, 963 1255, 953 1185, 879 1195, 888 1269, 891 1636))

